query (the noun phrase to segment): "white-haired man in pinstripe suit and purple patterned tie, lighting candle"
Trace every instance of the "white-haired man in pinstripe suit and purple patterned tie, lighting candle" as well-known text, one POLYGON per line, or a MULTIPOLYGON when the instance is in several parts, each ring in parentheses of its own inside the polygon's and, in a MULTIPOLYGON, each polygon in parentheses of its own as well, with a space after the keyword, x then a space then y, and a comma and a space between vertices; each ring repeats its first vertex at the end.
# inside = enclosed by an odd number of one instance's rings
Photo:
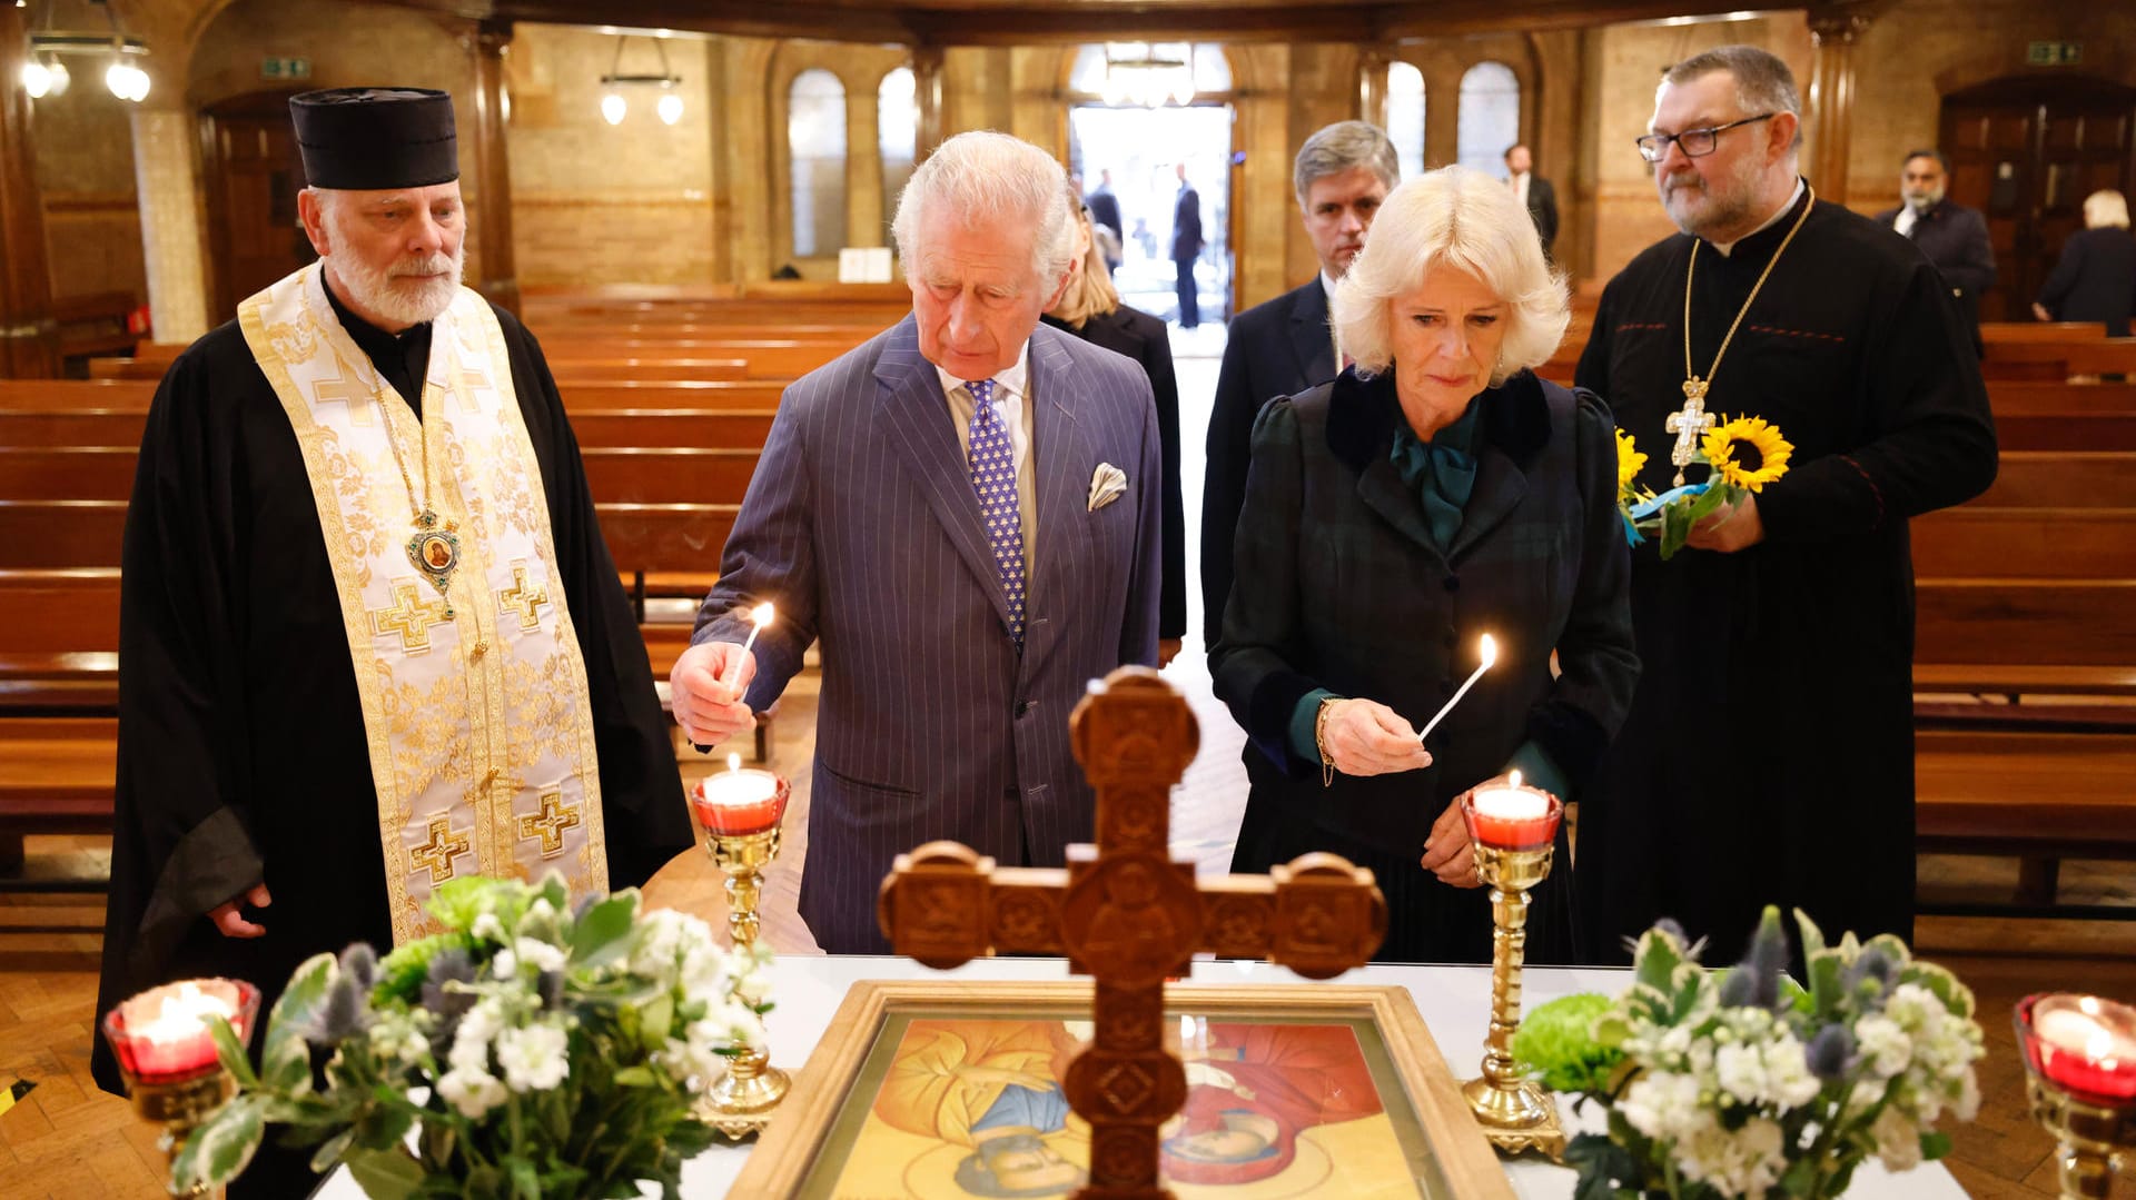
POLYGON ((675 664, 675 720, 716 743, 822 643, 801 916, 889 950, 891 858, 948 837, 1062 865, 1091 837, 1068 749, 1089 679, 1158 649, 1149 378, 1038 325, 1068 282, 1066 177, 998 132, 942 143, 893 235, 912 316, 786 389, 675 664), (778 623, 741 649, 745 613, 778 623))

